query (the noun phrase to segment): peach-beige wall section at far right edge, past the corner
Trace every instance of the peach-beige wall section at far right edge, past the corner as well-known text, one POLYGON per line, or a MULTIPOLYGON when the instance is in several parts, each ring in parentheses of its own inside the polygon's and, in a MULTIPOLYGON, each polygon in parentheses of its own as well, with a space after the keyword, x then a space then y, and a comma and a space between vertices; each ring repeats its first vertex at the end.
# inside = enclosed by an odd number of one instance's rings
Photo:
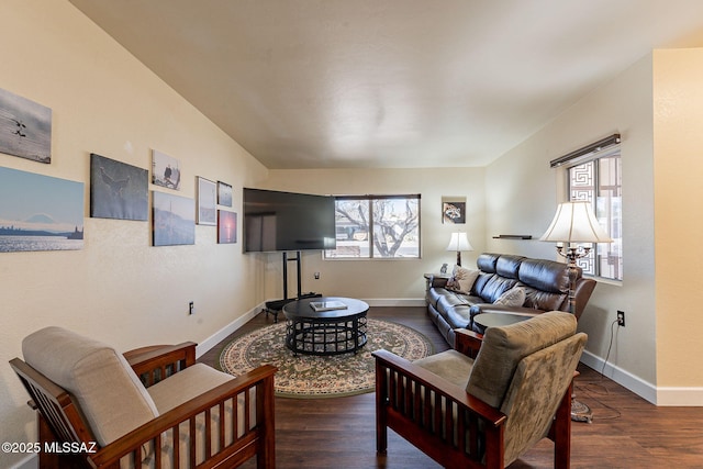
POLYGON ((703 405, 703 48, 654 53, 657 384, 703 405))

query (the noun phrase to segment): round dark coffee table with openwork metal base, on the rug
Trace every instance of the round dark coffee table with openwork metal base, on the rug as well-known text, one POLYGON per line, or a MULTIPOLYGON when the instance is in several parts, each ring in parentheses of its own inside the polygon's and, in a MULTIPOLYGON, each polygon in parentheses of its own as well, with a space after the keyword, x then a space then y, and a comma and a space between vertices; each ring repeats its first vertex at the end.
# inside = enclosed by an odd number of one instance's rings
POLYGON ((286 346, 295 355, 356 354, 366 345, 368 311, 367 303, 353 298, 322 297, 292 301, 283 306, 286 346), (331 309, 316 311, 311 303, 331 309))

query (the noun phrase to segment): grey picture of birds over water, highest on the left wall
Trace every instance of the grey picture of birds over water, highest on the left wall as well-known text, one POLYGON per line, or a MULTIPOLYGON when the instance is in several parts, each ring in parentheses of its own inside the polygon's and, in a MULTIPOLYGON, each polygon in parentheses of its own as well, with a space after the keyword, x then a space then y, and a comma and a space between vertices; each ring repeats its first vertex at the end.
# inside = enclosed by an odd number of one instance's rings
POLYGON ((52 163, 52 110, 0 89, 0 153, 52 163))

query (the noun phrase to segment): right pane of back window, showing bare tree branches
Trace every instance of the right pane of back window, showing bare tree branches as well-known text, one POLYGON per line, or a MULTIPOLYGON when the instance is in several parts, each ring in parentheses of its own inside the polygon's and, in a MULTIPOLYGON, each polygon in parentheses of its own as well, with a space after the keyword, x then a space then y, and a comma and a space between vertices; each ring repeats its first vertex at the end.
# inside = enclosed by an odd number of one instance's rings
POLYGON ((420 257, 420 200, 373 201, 373 257, 420 257))

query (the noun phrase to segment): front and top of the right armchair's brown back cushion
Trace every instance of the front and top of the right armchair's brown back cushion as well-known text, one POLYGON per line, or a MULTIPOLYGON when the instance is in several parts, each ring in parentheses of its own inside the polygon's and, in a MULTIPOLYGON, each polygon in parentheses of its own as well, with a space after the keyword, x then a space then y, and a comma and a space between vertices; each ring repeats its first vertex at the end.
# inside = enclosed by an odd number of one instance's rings
POLYGON ((576 326, 573 314, 551 311, 509 326, 487 328, 467 392, 499 409, 517 364, 527 355, 572 336, 576 326))

